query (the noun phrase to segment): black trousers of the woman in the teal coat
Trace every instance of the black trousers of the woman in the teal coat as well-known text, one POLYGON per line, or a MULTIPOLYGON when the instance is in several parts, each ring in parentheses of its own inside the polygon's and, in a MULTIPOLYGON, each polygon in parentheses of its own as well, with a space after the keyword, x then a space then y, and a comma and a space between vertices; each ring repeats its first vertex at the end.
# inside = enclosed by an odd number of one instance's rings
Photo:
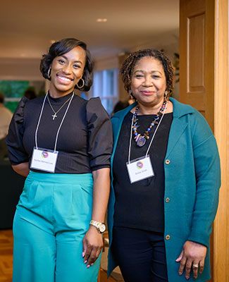
POLYGON ((163 233, 114 227, 112 251, 125 282, 166 282, 163 233))

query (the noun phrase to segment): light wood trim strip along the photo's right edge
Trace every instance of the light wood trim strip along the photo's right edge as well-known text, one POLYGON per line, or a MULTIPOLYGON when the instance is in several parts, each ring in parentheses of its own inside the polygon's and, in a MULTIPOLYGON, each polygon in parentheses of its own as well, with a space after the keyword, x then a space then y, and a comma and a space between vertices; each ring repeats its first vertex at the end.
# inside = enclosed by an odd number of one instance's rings
POLYGON ((214 133, 221 156, 221 190, 213 228, 213 281, 229 281, 228 2, 216 0, 214 133))

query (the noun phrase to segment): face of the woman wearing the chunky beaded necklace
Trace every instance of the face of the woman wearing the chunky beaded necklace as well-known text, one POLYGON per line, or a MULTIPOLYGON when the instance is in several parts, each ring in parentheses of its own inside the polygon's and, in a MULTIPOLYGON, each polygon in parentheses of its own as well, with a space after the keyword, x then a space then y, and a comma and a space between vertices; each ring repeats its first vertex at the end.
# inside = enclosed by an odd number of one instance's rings
POLYGON ((166 75, 161 62, 150 56, 137 61, 130 87, 140 106, 161 106, 166 91, 166 75))

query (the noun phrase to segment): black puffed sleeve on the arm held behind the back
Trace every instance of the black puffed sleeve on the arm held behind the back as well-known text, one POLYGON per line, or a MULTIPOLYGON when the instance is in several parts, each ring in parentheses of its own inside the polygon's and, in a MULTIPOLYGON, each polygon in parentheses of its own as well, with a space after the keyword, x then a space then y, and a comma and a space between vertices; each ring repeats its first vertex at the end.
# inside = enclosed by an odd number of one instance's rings
POLYGON ((26 102, 29 101, 23 97, 18 107, 13 114, 11 123, 8 128, 8 135, 6 136, 6 145, 8 147, 8 158, 11 164, 21 164, 29 161, 29 157, 23 147, 23 133, 24 133, 24 109, 26 102))

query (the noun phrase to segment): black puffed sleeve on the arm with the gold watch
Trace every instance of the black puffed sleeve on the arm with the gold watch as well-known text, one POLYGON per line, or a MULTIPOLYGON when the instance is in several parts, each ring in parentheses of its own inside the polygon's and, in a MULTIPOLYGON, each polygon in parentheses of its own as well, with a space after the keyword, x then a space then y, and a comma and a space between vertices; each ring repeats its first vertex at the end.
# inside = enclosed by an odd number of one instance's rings
POLYGON ((86 110, 90 166, 92 171, 97 171, 110 167, 113 145, 111 120, 99 97, 89 99, 86 110))

